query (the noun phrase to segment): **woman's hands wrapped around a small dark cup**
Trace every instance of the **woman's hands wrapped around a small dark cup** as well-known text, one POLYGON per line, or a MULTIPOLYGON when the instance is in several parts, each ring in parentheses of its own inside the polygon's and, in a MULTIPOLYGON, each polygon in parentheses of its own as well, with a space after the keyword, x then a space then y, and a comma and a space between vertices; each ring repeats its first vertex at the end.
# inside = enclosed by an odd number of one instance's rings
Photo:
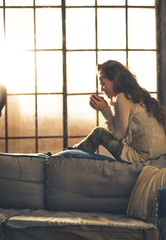
POLYGON ((97 95, 90 96, 89 104, 93 109, 98 111, 102 111, 108 107, 108 103, 105 101, 105 99, 97 95))

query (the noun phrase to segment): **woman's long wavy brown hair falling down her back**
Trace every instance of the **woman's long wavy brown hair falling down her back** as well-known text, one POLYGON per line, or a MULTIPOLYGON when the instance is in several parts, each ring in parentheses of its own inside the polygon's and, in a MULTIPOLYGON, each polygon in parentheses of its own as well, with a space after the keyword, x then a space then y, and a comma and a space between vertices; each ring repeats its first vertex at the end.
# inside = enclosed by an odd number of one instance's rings
POLYGON ((133 103, 139 103, 145 107, 147 112, 156 117, 158 122, 166 127, 166 111, 159 101, 151 97, 149 92, 142 88, 136 76, 121 63, 109 60, 98 65, 98 72, 110 81, 114 81, 114 92, 119 94, 124 92, 126 98, 133 103))

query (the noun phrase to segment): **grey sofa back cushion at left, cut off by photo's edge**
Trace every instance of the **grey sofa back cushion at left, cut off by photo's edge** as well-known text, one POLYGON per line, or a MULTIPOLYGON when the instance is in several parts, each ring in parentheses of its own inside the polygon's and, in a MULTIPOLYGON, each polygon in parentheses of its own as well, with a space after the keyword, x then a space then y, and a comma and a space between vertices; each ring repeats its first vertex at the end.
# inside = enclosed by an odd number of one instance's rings
POLYGON ((44 207, 45 157, 0 154, 0 207, 44 207))

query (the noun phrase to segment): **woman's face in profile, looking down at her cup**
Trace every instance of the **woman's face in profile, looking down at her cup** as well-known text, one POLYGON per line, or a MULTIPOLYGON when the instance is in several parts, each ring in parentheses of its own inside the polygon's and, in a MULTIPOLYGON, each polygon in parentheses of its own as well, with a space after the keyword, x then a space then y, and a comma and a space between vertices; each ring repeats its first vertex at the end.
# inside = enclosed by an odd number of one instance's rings
POLYGON ((104 92, 108 98, 115 97, 114 81, 110 81, 108 78, 105 78, 103 74, 100 75, 99 80, 101 84, 101 91, 104 92))

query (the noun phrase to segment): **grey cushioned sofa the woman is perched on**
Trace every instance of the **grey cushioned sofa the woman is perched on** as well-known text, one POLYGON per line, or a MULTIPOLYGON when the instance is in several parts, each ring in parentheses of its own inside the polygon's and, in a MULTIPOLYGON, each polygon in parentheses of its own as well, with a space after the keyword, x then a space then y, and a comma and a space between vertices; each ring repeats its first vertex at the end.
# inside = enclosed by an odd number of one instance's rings
POLYGON ((139 215, 147 209, 141 203, 135 213, 132 201, 143 170, 165 167, 165 155, 127 164, 81 150, 0 153, 0 240, 164 240, 165 172, 148 190, 156 194, 150 218, 139 215))

